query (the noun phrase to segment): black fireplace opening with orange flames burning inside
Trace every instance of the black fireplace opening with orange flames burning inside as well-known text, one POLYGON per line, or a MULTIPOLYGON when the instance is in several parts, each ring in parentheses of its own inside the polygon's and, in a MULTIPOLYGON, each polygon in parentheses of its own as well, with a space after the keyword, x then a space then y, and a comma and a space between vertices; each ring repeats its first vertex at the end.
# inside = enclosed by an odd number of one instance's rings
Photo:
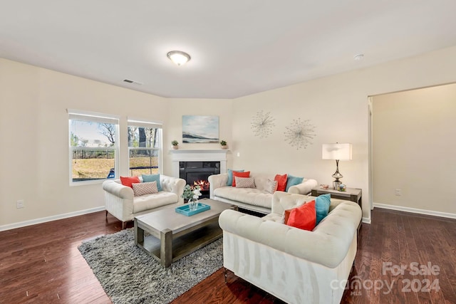
POLYGON ((179 177, 190 186, 201 187, 201 199, 209 198, 209 175, 219 173, 220 162, 179 162, 179 177))

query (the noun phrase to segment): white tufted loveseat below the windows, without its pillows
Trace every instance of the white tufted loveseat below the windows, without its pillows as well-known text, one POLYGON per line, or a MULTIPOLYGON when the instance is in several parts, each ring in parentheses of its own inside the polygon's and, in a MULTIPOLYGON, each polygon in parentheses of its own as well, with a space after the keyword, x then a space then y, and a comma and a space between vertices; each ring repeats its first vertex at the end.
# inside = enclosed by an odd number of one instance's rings
MULTIPOLYGON (((140 181, 142 182, 141 177, 140 181)), ((133 221, 135 216, 152 210, 160 210, 171 204, 176 206, 184 204, 181 196, 185 184, 185 179, 160 174, 162 191, 134 196, 133 189, 121 184, 120 179, 108 179, 103 182, 106 216, 108 216, 108 212, 115 216, 122 221, 122 229, 125 229, 127 221, 133 221)))

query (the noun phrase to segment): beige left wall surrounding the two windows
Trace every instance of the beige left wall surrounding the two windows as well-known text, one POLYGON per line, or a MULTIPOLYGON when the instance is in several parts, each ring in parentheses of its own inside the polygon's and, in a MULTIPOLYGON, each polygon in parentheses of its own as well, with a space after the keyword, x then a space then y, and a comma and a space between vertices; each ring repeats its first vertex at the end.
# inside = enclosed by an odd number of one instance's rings
POLYGON ((120 115, 121 126, 128 116, 168 117, 163 98, 4 59, 0 88, 0 227, 104 206, 100 184, 69 186, 67 108, 120 115))

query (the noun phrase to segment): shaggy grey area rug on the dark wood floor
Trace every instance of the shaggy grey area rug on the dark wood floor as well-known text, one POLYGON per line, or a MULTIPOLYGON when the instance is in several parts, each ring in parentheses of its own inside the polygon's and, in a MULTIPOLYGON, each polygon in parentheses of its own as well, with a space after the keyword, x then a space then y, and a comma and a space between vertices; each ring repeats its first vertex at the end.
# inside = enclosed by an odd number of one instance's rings
POLYGON ((78 247, 114 304, 170 303, 223 266, 222 239, 163 267, 135 246, 133 229, 78 247))

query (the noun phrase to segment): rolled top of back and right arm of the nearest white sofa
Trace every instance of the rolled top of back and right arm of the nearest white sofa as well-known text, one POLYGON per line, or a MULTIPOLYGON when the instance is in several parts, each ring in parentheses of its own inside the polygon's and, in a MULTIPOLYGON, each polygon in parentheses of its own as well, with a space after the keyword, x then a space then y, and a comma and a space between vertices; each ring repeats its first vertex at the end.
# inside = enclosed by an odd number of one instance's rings
POLYGON ((291 256, 329 268, 345 258, 361 220, 361 208, 353 201, 343 201, 321 221, 314 231, 297 229, 267 221, 239 211, 225 210, 219 216, 223 233, 264 244, 291 256))

